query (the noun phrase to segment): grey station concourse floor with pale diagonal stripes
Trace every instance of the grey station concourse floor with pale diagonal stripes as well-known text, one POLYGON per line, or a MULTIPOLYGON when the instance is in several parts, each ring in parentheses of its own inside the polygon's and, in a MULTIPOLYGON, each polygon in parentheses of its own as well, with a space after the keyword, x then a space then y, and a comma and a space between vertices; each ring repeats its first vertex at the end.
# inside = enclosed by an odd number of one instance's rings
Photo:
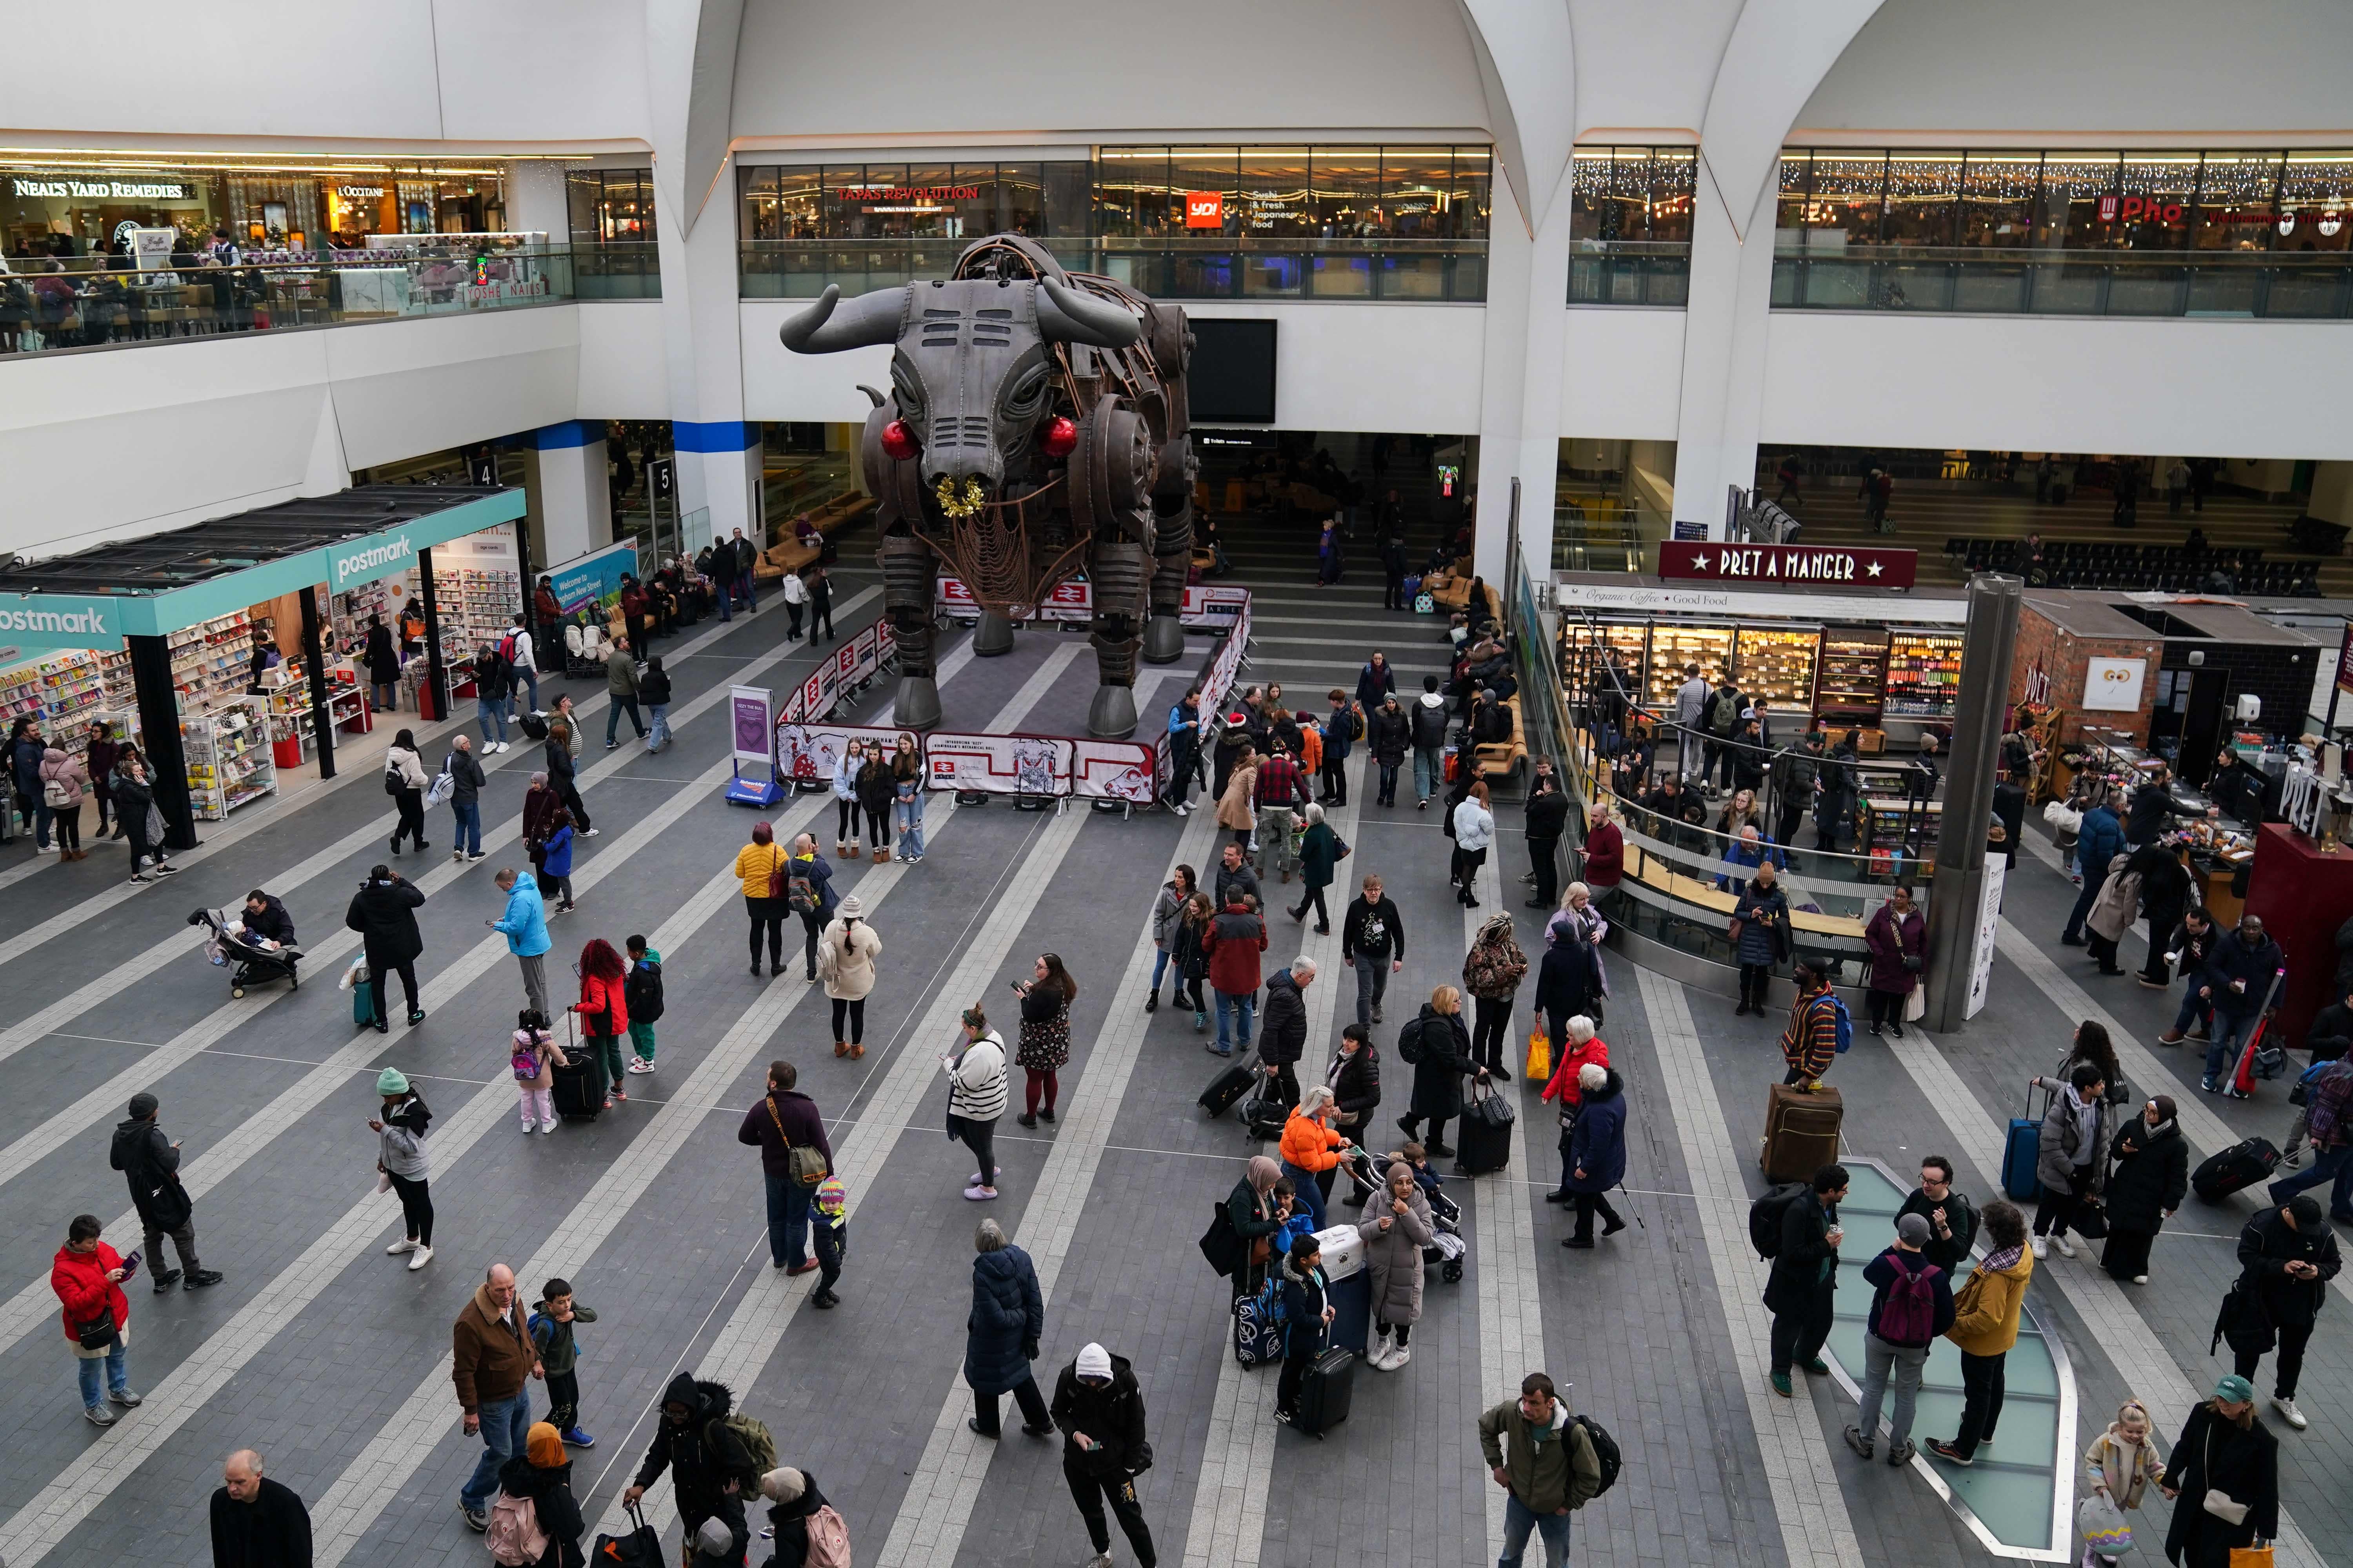
MULTIPOLYGON (((1327 686, 1353 689, 1372 646, 1388 649, 1400 679, 1442 665, 1438 623, 1381 611, 1379 581, 1367 585, 1362 571, 1311 588, 1311 541, 1268 534, 1271 524, 1228 531, 1235 581, 1259 595, 1249 679, 1282 679, 1294 703, 1308 691, 1320 708, 1327 686)), ((842 630, 880 607, 861 555, 845 548, 842 630)), ((946 644, 951 663, 955 646, 946 644)), ((520 863, 515 813, 534 750, 492 759, 489 858, 452 865, 447 816, 435 813, 435 853, 400 863, 428 889, 419 910, 428 1018, 414 1030, 395 1023, 391 1037, 355 1034, 348 997, 332 985, 348 961, 336 943, 344 903, 386 858, 379 835, 391 832, 391 802, 372 776, 311 790, 242 837, 221 832, 167 884, 122 884, 125 858, 108 844, 7 889, 0 1260, 12 1276, 0 1281, 0 1556, 12 1568, 207 1563, 207 1497, 221 1455, 242 1446, 259 1448, 268 1474, 311 1505, 320 1563, 480 1561, 482 1544, 456 1514, 456 1488, 480 1448, 459 1434, 447 1345, 452 1316, 499 1260, 522 1272, 527 1300, 560 1272, 600 1314, 579 1335, 581 1425, 598 1446, 574 1455, 574 1488, 591 1528, 614 1528, 619 1490, 652 1434, 652 1403, 687 1366, 727 1380, 769 1425, 781 1462, 807 1469, 847 1519, 859 1561, 1080 1563, 1089 1547, 1056 1446, 1007 1422, 991 1453, 962 1429, 967 1269, 981 1215, 1038 1260, 1047 1331, 1035 1373, 1047 1392, 1087 1340, 1134 1363, 1158 1453, 1139 1493, 1165 1563, 1492 1561, 1501 1507, 1473 1420, 1532 1368, 1567 1385, 1572 1403, 1626 1453, 1617 1488, 1574 1521, 1574 1561, 1988 1561, 1915 1474, 1845 1450, 1838 1432, 1854 1415, 1845 1396, 1824 1380, 1800 1380, 1795 1401, 1765 1387, 1762 1276, 1744 1208, 1760 1185, 1753 1150, 1765 1086, 1781 1074, 1779 1018, 1732 1018, 1729 1001, 1612 957, 1602 1037, 1631 1091, 1626 1208, 1640 1227, 1591 1253, 1555 1244, 1567 1215, 1541 1201, 1558 1178, 1551 1107, 1515 1081, 1511 1168, 1447 1185, 1466 1211, 1466 1279, 1428 1279, 1412 1366, 1395 1375, 1360 1368, 1348 1422, 1318 1443, 1271 1422, 1273 1368, 1233 1363, 1226 1284, 1193 1248, 1254 1145, 1235 1121, 1205 1121, 1193 1107, 1214 1063, 1191 1016, 1141 1011, 1153 893, 1172 860, 1209 863, 1221 837, 1209 813, 1122 820, 1021 813, 1002 802, 953 809, 934 797, 920 867, 838 867, 840 886, 873 905, 885 940, 868 1053, 840 1060, 826 1004, 791 959, 784 978, 746 973, 727 867, 753 816, 720 799, 727 686, 784 689, 812 654, 784 642, 784 618, 767 607, 725 628, 706 621, 661 651, 678 689, 678 743, 664 755, 626 743, 600 752, 602 691, 569 684, 591 726, 584 792, 602 835, 581 846, 581 907, 555 922, 551 985, 562 985, 586 938, 652 933, 668 992, 659 1072, 628 1079, 628 1105, 595 1124, 518 1133, 506 1034, 520 985, 504 943, 482 929, 499 912, 492 872, 520 863), (231 1004, 226 973, 202 961, 184 919, 254 884, 287 900, 322 957, 301 992, 261 987, 231 1004), (998 1131, 1005 1197, 967 1204, 969 1157, 941 1135, 934 1058, 951 1044, 955 1011, 974 1001, 1012 1039, 1005 985, 1042 950, 1059 952, 1080 987, 1061 1119, 1024 1131, 1007 1117, 998 1131), (809 1279, 767 1267, 758 1161, 734 1138, 774 1058, 798 1065, 849 1180, 852 1241, 835 1312, 805 1309, 809 1279), (398 1234, 398 1206, 372 1197, 365 1121, 384 1065, 407 1072, 435 1110, 435 1260, 416 1274, 381 1253, 398 1234), (99 1432, 75 1410, 47 1265, 82 1211, 108 1220, 122 1251, 136 1246, 136 1227, 113 1222, 127 1204, 106 1147, 122 1103, 141 1088, 160 1095, 165 1131, 186 1143, 202 1260, 228 1279, 160 1298, 134 1281, 129 1363, 146 1403, 99 1432)), ((1075 663, 1066 679, 1092 684, 1089 661, 1075 663)), ((967 686, 979 696, 991 679, 972 670, 965 663, 944 679, 951 715, 962 682, 979 682, 967 686)), ((1019 722, 1012 710, 1024 696, 991 686, 979 705, 1019 722)), ((856 717, 871 719, 887 701, 880 682, 856 717)), ((428 745, 440 752, 447 741, 428 745)), ((1360 771, 1362 752, 1351 764, 1360 771)), ((1506 910, 1534 947, 1541 914, 1522 907, 1515 804, 1499 811, 1504 832, 1480 891, 1487 907, 1464 912, 1447 896, 1435 809, 1414 811, 1409 783, 1400 809, 1372 806, 1362 778, 1348 802, 1334 818, 1355 853, 1341 865, 1332 912, 1360 875, 1381 870, 1407 926, 1407 966, 1377 1030, 1384 1110, 1374 1128, 1395 1143, 1393 1117, 1412 1079, 1393 1056, 1398 1025, 1431 987, 1459 983, 1478 919, 1506 910)), ((831 853, 826 797, 791 799, 774 816, 807 820, 831 853)), ((1297 884, 1268 884, 1268 893, 1287 900, 1297 884)), ((1965 1032, 1904 1048, 1859 1037, 1833 1072, 1857 1154, 1911 1171, 1944 1152, 1974 1197, 1991 1197, 1986 1150, 1998 1154, 2026 1077, 2057 1065, 2087 994, 2155 1058, 2160 1081, 2144 1084, 2139 1058, 2127 1056, 2139 1091, 2198 1103, 2238 1135, 2285 1133, 2282 1084, 2252 1103, 2200 1098, 2195 1060, 2151 1044, 2174 997, 2129 978, 2089 978, 2080 950, 2057 945, 2071 896, 2028 853, 2007 891, 1986 1013, 1965 1032)), ((798 945, 798 922, 788 924, 798 945)), ((1353 976, 1339 966, 1337 931, 1318 938, 1280 907, 1271 907, 1271 931, 1268 971, 1301 950, 1322 961, 1308 987, 1315 1072, 1353 1016, 1353 976)), ((2137 961, 2129 945, 2127 961, 2137 961)), ((2127 1394, 2160 1408, 2169 1439, 2186 1389, 2212 1387, 2224 1368, 2205 1354, 2207 1326, 2247 1213, 2247 1201, 2188 1201, 2158 1244, 2148 1288, 2111 1286, 2089 1258, 2038 1267, 2035 1305, 2059 1324, 2080 1382, 2064 1453, 2080 1453, 2127 1394)), ((2282 1549, 2282 1561, 2353 1561, 2344 1544, 2353 1500, 2341 1486, 2353 1462, 2348 1324, 2353 1307, 2332 1300, 2304 1373, 2311 1432, 2280 1434, 2282 1497, 2304 1542, 2301 1556, 2282 1549)), ((534 1401, 544 1410, 544 1394, 534 1401)), ((649 1502, 661 1495, 666 1483, 649 1502)), ((2153 1497, 2141 1516, 2158 1535, 2167 1507, 2153 1497)), ((1132 1561, 1125 1542, 1113 1552, 1132 1561)), ((765 1559, 755 1542, 753 1561, 765 1559)))

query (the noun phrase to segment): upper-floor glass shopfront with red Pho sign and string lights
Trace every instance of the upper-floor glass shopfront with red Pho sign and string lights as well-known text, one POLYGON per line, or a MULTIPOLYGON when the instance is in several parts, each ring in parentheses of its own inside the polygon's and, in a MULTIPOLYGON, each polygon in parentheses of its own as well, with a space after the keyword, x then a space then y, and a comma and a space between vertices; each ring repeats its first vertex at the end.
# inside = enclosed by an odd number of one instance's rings
POLYGON ((2353 153, 1788 148, 1777 308, 2353 317, 2353 153))

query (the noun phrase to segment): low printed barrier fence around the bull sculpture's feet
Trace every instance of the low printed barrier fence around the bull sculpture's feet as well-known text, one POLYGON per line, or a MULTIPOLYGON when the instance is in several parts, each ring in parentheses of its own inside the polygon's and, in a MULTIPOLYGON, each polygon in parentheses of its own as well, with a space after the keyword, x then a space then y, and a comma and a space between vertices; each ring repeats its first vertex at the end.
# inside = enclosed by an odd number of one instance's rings
MULTIPOLYGON (((979 616, 972 595, 955 578, 941 578, 936 604, 951 618, 958 614, 979 616)), ((1087 583, 1064 583, 1054 602, 1038 618, 1085 621, 1092 614, 1089 607, 1092 595, 1087 592, 1087 583)), ((1181 618, 1193 628, 1226 628, 1200 682, 1200 712, 1209 715, 1219 710, 1219 703, 1233 689, 1233 679, 1249 651, 1249 590, 1188 588, 1181 618)), ((880 743, 892 755, 896 755, 901 741, 908 743, 932 790, 1148 806, 1169 783, 1174 762, 1165 733, 1158 741, 1094 741, 1026 731, 993 736, 934 729, 932 733, 915 733, 913 729, 828 722, 845 696, 864 689, 866 682, 882 672, 892 654, 896 654, 896 642, 892 639, 889 623, 878 621, 856 637, 845 639, 833 651, 833 658, 809 672, 807 679, 776 703, 767 736, 767 762, 774 766, 781 785, 802 790, 831 788, 833 769, 852 741, 880 743)), ((746 696, 739 689, 739 701, 746 696)))

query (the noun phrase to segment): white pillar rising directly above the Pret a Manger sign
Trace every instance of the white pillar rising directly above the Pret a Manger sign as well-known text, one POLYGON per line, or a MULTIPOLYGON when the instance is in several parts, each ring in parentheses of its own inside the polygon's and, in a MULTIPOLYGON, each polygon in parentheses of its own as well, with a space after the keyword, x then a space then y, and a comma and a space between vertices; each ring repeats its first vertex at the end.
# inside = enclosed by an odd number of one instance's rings
POLYGON ((1675 522, 1722 538, 1725 489, 1755 484, 1765 411, 1765 334, 1772 324, 1777 176, 1758 190, 1715 186, 1699 160, 1692 216, 1692 299, 1682 313, 1682 404, 1675 418, 1675 522), (1746 212, 1734 228, 1729 214, 1746 212))

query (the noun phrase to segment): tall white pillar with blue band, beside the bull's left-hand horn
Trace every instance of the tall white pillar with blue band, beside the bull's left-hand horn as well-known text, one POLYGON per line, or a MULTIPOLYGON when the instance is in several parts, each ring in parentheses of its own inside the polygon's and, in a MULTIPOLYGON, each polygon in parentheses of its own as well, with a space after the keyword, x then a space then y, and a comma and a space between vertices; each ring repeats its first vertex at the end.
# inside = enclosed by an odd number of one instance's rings
MULTIPOLYGON (((708 508, 711 538, 744 529, 765 545, 760 425, 744 421, 734 188, 734 165, 727 165, 692 233, 671 207, 654 202, 661 226, 661 350, 671 381, 680 510, 708 508)), ((769 348, 784 353, 781 343, 769 348)))

